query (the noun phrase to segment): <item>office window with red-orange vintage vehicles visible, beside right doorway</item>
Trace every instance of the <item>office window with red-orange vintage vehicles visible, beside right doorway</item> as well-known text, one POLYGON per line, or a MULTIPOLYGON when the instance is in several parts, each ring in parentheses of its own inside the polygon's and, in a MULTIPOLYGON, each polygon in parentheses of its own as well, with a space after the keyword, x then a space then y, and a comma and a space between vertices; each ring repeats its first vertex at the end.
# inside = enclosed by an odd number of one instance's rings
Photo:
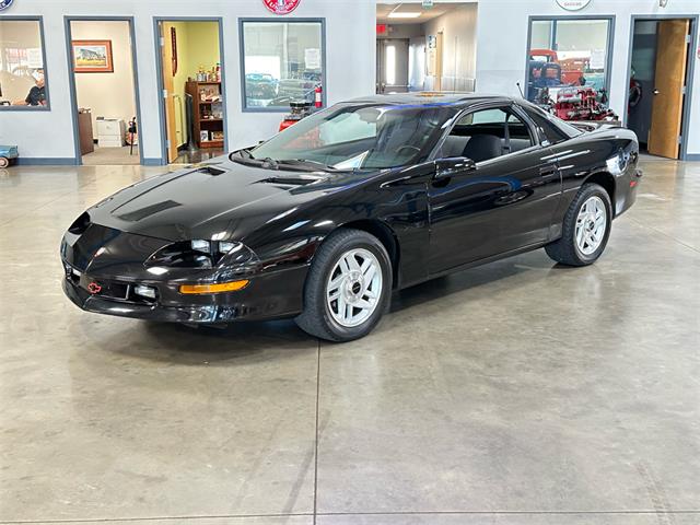
POLYGON ((539 102, 567 86, 591 86, 607 102, 610 19, 533 20, 527 54, 527 98, 539 102))

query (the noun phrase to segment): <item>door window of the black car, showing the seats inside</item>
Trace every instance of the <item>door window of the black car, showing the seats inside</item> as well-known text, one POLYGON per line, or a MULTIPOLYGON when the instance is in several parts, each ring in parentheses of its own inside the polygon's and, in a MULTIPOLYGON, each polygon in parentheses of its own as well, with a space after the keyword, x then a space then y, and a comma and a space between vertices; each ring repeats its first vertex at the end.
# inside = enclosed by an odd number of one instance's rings
POLYGON ((440 156, 483 162, 535 144, 529 127, 509 107, 481 109, 462 117, 442 145, 440 156))

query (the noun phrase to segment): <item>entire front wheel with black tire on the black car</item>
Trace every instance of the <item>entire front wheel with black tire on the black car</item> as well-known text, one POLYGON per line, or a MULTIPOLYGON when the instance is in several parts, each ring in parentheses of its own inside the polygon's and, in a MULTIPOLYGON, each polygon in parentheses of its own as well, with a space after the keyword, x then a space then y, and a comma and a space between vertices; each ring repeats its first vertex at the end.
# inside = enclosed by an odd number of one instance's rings
POLYGON ((384 245, 361 230, 338 230, 318 248, 304 287, 305 332, 345 342, 366 336, 388 307, 392 261, 384 245))

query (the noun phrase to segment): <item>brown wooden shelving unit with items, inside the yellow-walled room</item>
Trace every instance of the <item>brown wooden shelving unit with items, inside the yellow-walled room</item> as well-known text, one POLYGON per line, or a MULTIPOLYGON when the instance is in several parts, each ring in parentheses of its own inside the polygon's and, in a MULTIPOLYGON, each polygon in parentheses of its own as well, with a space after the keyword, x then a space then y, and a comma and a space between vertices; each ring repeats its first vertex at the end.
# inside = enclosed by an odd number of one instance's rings
POLYGON ((195 140, 199 148, 223 148, 223 102, 221 82, 189 81, 185 91, 192 96, 195 113, 195 140), (203 93, 203 94, 202 94, 203 93), (211 100, 219 97, 219 100, 211 100), (208 140, 201 139, 207 131, 208 140), (214 135, 221 138, 214 138, 214 135))

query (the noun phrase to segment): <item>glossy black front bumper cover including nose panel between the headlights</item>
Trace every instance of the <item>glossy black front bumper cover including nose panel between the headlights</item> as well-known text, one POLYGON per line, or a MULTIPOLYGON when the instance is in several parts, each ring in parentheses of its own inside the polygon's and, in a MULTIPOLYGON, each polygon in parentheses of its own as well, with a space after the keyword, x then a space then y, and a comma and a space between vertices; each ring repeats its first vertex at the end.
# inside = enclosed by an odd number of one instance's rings
POLYGON ((231 323, 292 317, 303 308, 307 260, 256 262, 231 267, 220 276, 211 270, 152 268, 143 261, 170 244, 98 224, 63 236, 62 288, 80 308, 98 314, 170 323, 231 323), (158 271, 154 271, 158 270, 158 271), (246 279, 243 290, 183 294, 182 284, 229 282, 246 279), (153 298, 139 295, 137 287, 150 287, 153 298))

